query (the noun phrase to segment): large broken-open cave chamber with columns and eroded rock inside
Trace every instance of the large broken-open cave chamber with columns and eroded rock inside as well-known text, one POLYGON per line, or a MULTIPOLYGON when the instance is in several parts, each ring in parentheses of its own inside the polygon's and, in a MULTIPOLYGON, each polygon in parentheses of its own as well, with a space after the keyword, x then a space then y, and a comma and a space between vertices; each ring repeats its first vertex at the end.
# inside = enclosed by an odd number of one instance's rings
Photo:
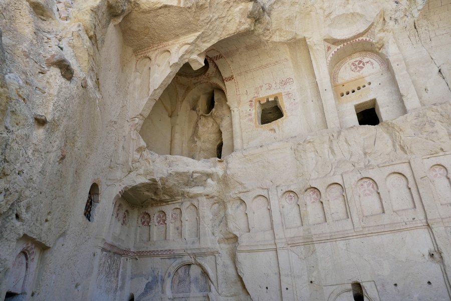
POLYGON ((194 70, 184 64, 152 107, 139 132, 159 155, 195 160, 234 151, 232 113, 221 73, 212 59, 194 70))

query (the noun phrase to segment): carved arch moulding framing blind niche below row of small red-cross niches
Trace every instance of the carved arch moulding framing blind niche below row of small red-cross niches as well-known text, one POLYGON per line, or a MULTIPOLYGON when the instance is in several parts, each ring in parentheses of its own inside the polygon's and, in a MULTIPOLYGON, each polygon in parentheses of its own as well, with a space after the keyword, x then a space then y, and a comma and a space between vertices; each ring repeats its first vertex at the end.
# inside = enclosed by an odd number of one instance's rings
POLYGON ((163 278, 163 295, 167 296, 169 299, 172 297, 171 292, 171 283, 172 283, 172 277, 174 276, 174 273, 183 265, 185 264, 195 264, 199 266, 202 271, 206 274, 208 277, 208 280, 210 282, 210 291, 215 292, 217 283, 216 279, 214 278, 215 273, 208 267, 206 262, 204 262, 202 259, 192 257, 183 257, 176 261, 174 261, 169 268, 167 269, 166 273, 164 274, 163 278))

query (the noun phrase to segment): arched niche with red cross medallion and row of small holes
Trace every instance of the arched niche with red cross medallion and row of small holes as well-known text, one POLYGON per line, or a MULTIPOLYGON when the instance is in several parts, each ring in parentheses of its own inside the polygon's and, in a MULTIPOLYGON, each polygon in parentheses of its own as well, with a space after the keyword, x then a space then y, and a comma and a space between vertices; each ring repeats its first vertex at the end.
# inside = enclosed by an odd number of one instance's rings
POLYGON ((389 60, 376 51, 374 33, 326 39, 328 65, 342 128, 377 125, 407 113, 389 60))

